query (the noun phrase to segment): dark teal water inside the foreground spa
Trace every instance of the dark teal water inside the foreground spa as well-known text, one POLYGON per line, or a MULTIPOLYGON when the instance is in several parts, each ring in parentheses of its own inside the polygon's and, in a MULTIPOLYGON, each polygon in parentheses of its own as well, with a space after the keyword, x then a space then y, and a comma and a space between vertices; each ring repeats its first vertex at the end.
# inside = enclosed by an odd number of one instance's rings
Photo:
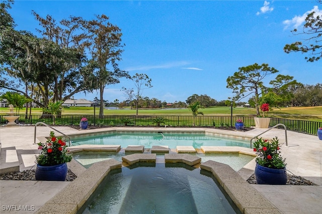
POLYGON ((240 213, 210 172, 172 166, 112 170, 83 213, 240 213))

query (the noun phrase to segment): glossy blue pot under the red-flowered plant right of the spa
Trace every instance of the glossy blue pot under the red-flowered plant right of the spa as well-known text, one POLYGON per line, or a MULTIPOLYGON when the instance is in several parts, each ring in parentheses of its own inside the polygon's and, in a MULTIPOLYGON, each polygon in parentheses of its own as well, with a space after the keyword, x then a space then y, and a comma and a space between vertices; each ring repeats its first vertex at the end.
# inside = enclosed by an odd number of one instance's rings
POLYGON ((287 182, 286 168, 272 169, 257 163, 255 177, 258 184, 285 185, 287 182))

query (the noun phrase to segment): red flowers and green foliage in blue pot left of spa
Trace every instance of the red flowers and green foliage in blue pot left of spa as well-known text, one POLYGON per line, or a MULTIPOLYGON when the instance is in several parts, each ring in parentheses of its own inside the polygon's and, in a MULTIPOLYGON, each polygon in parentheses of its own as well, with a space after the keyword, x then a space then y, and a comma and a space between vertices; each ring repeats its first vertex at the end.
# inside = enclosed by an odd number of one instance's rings
POLYGON ((67 153, 67 145, 61 137, 56 137, 53 131, 50 132, 46 143, 38 143, 38 149, 41 150, 36 155, 36 163, 42 166, 54 166, 61 163, 70 162, 72 154, 67 153))

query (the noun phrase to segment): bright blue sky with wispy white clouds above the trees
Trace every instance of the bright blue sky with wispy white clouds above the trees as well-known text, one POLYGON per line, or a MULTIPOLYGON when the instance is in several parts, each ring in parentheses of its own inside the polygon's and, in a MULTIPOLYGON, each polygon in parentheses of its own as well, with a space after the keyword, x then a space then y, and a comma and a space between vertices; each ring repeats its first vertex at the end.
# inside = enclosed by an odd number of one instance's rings
MULTIPOLYGON (((285 44, 302 41, 293 36, 302 29, 306 14, 316 1, 15 1, 9 13, 16 29, 36 34, 40 28, 31 15, 51 15, 56 21, 69 16, 86 20, 105 14, 121 28, 125 43, 119 66, 131 76, 147 74, 152 88, 143 97, 161 101, 185 101, 206 94, 217 101, 233 96, 226 79, 239 67, 267 63, 303 84, 322 83, 321 60, 308 63, 301 53, 286 54, 285 44)), ((276 75, 268 77, 269 82, 276 75), (269 79, 271 78, 271 79, 269 79)), ((125 100, 121 88, 134 88, 121 79, 106 86, 104 99, 125 100)), ((75 95, 93 100, 99 92, 75 95)), ((246 99, 248 100, 248 98, 246 99)))

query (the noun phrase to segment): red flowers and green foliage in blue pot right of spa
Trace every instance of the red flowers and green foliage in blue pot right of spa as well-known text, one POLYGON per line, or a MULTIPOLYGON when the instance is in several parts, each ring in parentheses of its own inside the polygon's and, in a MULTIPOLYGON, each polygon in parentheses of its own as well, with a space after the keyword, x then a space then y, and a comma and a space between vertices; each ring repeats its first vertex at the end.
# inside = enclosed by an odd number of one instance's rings
POLYGON ((254 142, 254 151, 256 152, 256 162, 268 168, 285 168, 285 158, 282 158, 277 137, 273 140, 257 138, 254 142))

